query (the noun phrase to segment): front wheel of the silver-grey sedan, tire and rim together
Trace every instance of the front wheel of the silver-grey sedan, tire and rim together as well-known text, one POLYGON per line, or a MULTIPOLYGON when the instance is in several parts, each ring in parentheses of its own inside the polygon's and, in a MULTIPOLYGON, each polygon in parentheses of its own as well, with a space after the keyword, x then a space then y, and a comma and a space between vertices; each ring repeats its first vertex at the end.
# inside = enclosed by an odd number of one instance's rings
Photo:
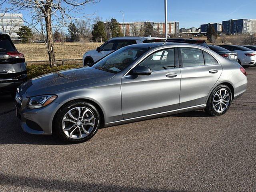
POLYGON ((100 113, 84 101, 65 104, 56 114, 53 134, 60 139, 80 143, 92 138, 100 127, 100 113))

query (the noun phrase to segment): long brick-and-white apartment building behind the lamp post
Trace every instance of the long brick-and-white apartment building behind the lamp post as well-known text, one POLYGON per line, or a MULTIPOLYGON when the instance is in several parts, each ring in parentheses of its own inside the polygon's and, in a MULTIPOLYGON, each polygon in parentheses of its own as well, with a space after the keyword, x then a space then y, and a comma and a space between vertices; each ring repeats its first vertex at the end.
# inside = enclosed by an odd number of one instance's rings
MULTIPOLYGON (((150 23, 153 26, 153 30, 156 34, 165 34, 165 23, 164 22, 125 22, 120 23, 119 26, 125 31, 126 36, 144 36, 144 28, 146 23, 150 23)), ((168 34, 177 34, 179 32, 179 22, 167 22, 168 34)))

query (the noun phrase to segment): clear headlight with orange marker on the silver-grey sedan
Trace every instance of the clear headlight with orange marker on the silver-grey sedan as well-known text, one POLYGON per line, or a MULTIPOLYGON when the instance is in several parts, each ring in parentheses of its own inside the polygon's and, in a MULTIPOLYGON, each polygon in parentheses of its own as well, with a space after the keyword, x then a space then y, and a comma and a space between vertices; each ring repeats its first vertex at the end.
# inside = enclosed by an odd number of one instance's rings
POLYGON ((41 95, 30 97, 27 108, 29 109, 36 109, 47 106, 51 102, 53 102, 57 98, 56 95, 41 95))

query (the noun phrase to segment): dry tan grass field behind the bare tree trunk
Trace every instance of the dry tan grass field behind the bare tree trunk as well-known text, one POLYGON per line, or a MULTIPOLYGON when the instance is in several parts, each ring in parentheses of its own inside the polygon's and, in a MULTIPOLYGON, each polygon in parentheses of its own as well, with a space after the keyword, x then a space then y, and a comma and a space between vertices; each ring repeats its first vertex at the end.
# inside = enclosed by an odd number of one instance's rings
MULTIPOLYGON (((55 43, 54 51, 58 59, 82 59, 88 50, 96 49, 101 43, 55 43)), ((48 53, 44 43, 16 44, 19 52, 23 53, 26 61, 48 60, 48 53)))

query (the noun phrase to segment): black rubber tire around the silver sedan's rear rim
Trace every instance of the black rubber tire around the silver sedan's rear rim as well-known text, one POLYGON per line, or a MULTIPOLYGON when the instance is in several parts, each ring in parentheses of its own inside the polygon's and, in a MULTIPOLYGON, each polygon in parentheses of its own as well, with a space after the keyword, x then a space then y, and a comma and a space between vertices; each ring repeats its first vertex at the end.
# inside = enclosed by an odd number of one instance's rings
MULTIPOLYGON (((218 96, 217 96, 218 97, 218 96)), ((216 100, 216 99, 215 99, 216 100)), ((214 88, 214 90, 212 91, 212 93, 210 94, 210 97, 208 98, 208 101, 207 101, 207 104, 206 104, 206 108, 205 108, 205 111, 208 112, 210 115, 212 116, 220 116, 220 115, 223 115, 225 114, 229 107, 230 107, 230 104, 231 104, 231 101, 232 101, 232 92, 230 90, 230 88, 226 85, 223 85, 223 84, 220 84, 218 86, 216 86, 216 88, 214 88), (225 110, 223 110, 222 112, 217 112, 215 109, 214 109, 214 106, 213 106, 213 99, 214 99, 214 96, 216 95, 216 93, 219 91, 219 90, 226 90, 229 94, 229 102, 228 102, 228 106, 226 107, 225 110)), ((222 101, 223 102, 223 101, 222 101)), ((216 103, 214 103, 216 104, 216 103)), ((216 108, 218 108, 218 106, 216 106, 216 108)))

